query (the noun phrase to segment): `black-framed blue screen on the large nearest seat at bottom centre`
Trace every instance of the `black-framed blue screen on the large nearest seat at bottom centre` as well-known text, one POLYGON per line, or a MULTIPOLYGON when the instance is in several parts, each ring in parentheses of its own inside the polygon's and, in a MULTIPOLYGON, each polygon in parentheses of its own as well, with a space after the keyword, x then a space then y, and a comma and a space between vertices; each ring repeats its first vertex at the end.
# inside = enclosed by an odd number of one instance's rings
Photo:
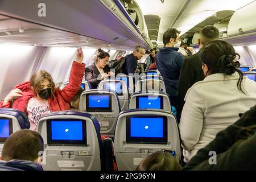
POLYGON ((138 115, 126 118, 126 142, 167 144, 167 118, 138 115))

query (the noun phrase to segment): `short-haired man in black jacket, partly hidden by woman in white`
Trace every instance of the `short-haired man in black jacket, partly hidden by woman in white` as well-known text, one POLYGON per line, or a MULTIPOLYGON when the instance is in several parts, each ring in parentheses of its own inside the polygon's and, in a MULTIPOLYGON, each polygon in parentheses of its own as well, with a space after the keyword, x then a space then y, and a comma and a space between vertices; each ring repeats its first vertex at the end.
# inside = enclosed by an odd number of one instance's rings
MULTIPOLYGON (((218 29, 214 26, 206 26, 200 32, 200 38, 197 40, 199 44, 199 49, 203 48, 205 44, 213 40, 218 39, 218 29)), ((199 59, 198 53, 189 56, 184 60, 184 63, 180 72, 180 80, 177 85, 178 89, 178 102, 179 109, 182 111, 185 104, 184 98, 189 88, 198 81, 204 80, 204 72, 202 69, 202 63, 199 59)), ((180 115, 178 113, 178 115, 180 115)), ((178 116, 179 118, 179 116, 178 116)))

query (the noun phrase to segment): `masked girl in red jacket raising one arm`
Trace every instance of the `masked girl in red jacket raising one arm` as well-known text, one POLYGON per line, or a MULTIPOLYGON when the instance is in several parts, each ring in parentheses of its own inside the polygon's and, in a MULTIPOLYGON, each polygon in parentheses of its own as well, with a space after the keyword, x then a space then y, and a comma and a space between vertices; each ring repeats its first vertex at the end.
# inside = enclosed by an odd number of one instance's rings
POLYGON ((63 90, 55 88, 52 76, 40 70, 35 72, 30 81, 23 82, 0 102, 0 107, 13 107, 27 114, 30 120, 30 129, 36 130, 42 114, 53 111, 69 110, 69 102, 80 88, 84 76, 85 64, 82 49, 77 49, 76 61, 73 61, 69 84, 63 90), (11 102, 13 105, 11 106, 11 102))

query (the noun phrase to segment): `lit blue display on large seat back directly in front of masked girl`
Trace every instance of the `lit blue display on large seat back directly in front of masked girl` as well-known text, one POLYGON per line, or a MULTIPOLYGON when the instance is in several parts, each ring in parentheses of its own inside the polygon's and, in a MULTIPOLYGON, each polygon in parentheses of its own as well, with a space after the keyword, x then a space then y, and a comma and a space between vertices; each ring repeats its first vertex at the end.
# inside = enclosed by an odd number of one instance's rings
POLYGON ((52 140, 82 140, 82 121, 52 121, 52 140))

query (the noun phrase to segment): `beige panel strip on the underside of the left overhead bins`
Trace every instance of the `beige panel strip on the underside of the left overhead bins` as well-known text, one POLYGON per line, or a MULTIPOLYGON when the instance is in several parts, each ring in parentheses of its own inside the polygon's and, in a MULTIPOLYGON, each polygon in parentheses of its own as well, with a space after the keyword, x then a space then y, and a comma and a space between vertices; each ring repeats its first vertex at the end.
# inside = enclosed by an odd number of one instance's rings
POLYGON ((119 44, 40 26, 3 15, 0 15, 0 43, 42 47, 130 49, 130 47, 119 44))

